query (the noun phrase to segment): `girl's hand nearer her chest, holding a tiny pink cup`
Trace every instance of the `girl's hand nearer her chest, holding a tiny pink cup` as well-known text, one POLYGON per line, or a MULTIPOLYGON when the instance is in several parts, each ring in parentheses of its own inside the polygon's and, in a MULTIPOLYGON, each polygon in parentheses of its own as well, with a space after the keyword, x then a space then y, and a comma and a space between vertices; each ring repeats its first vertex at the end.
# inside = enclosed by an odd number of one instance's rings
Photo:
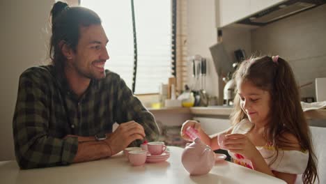
POLYGON ((231 134, 226 135, 223 141, 224 147, 232 153, 239 153, 244 158, 252 160, 259 153, 256 146, 248 139, 246 135, 231 134))

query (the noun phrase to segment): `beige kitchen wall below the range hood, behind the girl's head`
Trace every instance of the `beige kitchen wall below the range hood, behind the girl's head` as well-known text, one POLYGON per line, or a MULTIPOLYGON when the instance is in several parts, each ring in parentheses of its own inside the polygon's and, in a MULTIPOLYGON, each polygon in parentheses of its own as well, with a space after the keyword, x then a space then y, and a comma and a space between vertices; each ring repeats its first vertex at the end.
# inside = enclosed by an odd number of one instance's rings
POLYGON ((290 62, 302 97, 316 100, 315 78, 326 77, 326 5, 251 31, 251 50, 290 62))

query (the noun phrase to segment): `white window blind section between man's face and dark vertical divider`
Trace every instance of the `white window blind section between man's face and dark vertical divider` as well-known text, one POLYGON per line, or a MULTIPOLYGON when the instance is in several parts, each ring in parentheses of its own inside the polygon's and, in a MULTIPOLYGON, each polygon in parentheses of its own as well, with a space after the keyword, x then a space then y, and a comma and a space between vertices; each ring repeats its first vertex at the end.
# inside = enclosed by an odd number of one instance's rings
POLYGON ((132 89, 134 41, 130 0, 83 0, 81 6, 94 10, 102 20, 110 56, 104 68, 118 73, 132 89))

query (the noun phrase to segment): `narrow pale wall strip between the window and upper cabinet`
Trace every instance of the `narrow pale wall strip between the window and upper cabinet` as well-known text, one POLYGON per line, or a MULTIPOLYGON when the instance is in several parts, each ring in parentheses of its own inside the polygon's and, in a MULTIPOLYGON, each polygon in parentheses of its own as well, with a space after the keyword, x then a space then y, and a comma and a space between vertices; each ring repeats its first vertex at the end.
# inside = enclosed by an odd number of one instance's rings
MULTIPOLYGON (((217 29, 215 16, 215 0, 188 0, 187 1, 187 54, 200 54, 208 62, 208 77, 206 77, 206 91, 210 95, 218 95, 218 78, 215 71, 209 47, 217 43, 217 29)), ((189 61, 188 79, 192 84, 192 68, 189 61)))

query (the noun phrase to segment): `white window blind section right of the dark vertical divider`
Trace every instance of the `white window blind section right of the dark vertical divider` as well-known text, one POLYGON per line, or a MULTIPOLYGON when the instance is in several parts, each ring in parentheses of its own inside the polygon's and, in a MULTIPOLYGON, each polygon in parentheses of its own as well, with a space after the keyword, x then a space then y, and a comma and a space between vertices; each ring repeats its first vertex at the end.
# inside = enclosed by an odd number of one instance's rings
POLYGON ((137 77, 134 93, 158 93, 171 77, 171 0, 134 0, 137 77))

